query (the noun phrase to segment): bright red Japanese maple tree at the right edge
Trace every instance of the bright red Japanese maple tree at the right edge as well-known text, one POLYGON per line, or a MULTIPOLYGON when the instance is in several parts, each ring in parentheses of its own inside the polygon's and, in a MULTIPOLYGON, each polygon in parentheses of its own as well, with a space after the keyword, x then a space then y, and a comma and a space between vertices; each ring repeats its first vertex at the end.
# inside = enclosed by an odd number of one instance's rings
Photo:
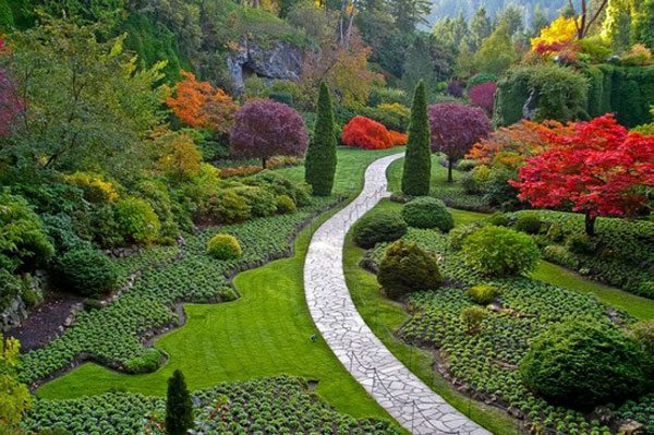
POLYGON ((518 180, 519 197, 534 207, 569 206, 585 215, 594 235, 597 216, 625 216, 647 203, 654 185, 654 136, 629 133, 613 114, 573 124, 568 134, 543 133, 552 147, 528 159, 518 180))

